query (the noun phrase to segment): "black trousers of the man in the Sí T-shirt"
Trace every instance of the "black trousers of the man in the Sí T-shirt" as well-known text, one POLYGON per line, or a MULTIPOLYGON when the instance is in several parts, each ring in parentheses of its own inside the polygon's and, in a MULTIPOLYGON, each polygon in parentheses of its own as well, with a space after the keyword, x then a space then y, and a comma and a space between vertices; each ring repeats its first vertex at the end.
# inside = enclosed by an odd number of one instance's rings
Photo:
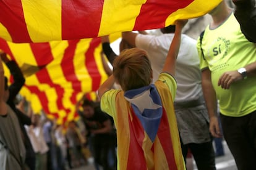
POLYGON ((224 138, 239 170, 256 169, 256 113, 242 117, 221 115, 224 138))

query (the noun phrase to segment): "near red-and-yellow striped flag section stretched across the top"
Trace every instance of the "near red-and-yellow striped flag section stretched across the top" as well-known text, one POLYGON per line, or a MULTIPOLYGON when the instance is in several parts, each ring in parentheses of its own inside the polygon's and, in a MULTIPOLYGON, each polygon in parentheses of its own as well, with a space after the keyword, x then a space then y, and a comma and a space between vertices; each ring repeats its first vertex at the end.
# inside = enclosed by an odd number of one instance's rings
POLYGON ((222 0, 2 0, 0 37, 11 42, 96 38, 200 17, 222 0))

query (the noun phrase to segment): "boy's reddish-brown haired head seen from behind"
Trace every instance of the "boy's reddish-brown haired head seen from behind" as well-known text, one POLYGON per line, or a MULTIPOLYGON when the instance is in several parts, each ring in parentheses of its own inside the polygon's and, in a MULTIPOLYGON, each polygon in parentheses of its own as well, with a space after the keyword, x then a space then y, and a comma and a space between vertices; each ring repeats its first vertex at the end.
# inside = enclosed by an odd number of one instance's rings
POLYGON ((124 91, 148 86, 153 76, 147 52, 139 48, 122 51, 114 60, 113 75, 124 91))

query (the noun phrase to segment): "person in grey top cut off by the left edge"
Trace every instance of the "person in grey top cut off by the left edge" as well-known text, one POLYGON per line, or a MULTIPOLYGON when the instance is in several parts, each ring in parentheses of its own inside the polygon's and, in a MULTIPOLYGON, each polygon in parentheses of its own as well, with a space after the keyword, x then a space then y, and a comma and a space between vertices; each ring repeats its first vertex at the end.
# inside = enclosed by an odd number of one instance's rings
POLYGON ((7 105, 9 91, 4 85, 4 68, 0 57, 0 169, 25 168, 25 147, 19 120, 7 105))

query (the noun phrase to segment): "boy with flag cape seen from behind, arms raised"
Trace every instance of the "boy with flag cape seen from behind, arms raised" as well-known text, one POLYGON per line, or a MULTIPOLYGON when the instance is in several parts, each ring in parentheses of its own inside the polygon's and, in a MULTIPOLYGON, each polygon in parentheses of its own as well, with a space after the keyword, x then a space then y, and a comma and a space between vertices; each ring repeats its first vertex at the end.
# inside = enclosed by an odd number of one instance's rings
POLYGON ((113 116, 117 130, 117 169, 186 169, 179 143, 173 100, 181 30, 176 22, 163 72, 153 78, 147 53, 133 48, 114 60, 113 75, 98 89, 101 110, 113 116), (114 82, 122 90, 110 90, 114 82))

